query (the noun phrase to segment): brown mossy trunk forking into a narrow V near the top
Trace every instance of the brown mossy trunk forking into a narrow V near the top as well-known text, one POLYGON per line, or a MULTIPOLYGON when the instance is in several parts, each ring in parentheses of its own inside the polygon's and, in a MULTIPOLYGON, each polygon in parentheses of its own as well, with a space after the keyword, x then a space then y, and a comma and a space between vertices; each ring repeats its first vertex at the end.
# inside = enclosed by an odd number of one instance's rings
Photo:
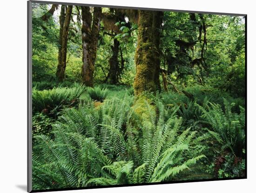
POLYGON ((90 8, 82 6, 82 81, 86 86, 93 87, 94 64, 100 33, 101 7, 94 7, 93 23, 90 8), (92 23, 92 26, 91 26, 92 23))

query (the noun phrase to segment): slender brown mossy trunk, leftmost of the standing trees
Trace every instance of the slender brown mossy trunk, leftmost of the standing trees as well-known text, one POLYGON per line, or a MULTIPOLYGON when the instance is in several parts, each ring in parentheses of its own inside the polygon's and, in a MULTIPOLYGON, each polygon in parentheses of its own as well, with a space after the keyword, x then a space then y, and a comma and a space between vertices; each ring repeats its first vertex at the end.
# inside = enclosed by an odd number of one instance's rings
POLYGON ((65 15, 65 6, 61 6, 61 15, 60 15, 60 47, 59 47, 59 56, 58 56, 58 66, 56 71, 56 77, 59 82, 62 82, 65 78, 66 70, 66 60, 67 60, 67 38, 68 38, 68 28, 71 19, 73 6, 67 6, 66 15, 65 15))

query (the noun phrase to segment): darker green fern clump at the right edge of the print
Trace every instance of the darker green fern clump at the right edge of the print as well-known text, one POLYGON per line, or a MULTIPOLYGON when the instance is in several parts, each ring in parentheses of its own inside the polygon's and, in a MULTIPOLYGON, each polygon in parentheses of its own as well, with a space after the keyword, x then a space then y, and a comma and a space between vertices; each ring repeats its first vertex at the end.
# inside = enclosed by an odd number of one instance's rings
POLYGON ((202 110, 202 117, 209 122, 212 129, 209 133, 222 145, 222 150, 229 149, 234 155, 242 157, 245 146, 245 109, 240 106, 240 114, 233 113, 235 103, 224 100, 224 110, 221 106, 209 103, 202 110))

